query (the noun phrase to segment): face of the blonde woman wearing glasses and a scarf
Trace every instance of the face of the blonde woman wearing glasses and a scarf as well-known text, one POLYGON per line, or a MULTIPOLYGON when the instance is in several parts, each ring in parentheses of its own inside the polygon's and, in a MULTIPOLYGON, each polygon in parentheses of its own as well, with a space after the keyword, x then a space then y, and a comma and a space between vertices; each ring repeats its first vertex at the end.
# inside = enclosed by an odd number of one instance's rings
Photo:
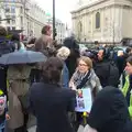
POLYGON ((85 74, 89 70, 89 67, 88 65, 84 62, 84 61, 79 61, 79 64, 78 64, 78 70, 81 73, 81 74, 85 74))

